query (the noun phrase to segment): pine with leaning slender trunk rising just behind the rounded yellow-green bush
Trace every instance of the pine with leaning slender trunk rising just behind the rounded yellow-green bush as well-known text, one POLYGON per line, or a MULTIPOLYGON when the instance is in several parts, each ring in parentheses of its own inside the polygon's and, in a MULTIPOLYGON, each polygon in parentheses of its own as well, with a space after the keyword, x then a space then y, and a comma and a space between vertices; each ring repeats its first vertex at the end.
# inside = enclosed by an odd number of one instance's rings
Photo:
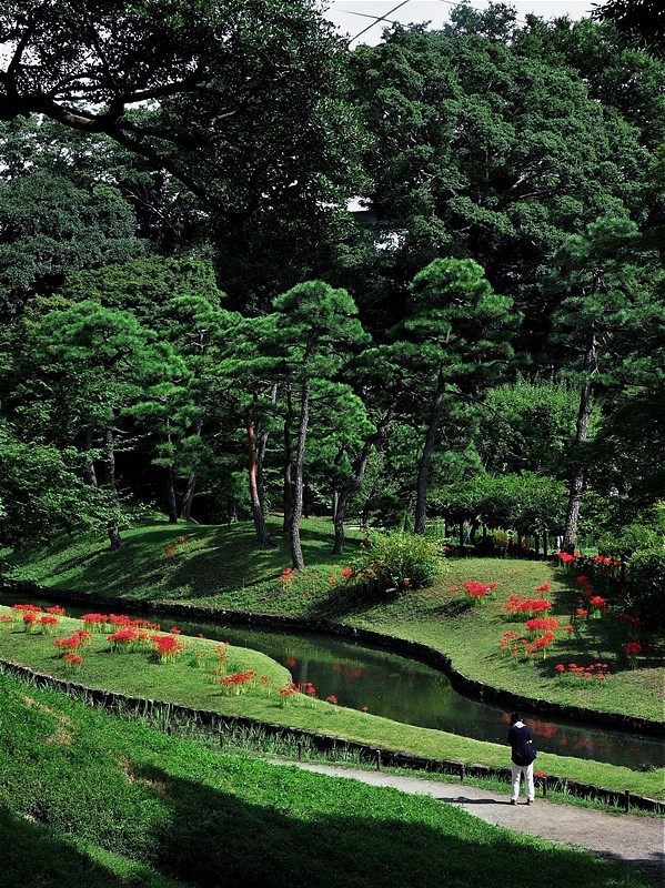
POLYGON ((471 259, 439 259, 410 287, 407 315, 395 343, 412 373, 425 441, 417 470, 414 532, 425 531, 430 470, 447 401, 477 396, 496 362, 511 355, 512 300, 498 295, 471 259))

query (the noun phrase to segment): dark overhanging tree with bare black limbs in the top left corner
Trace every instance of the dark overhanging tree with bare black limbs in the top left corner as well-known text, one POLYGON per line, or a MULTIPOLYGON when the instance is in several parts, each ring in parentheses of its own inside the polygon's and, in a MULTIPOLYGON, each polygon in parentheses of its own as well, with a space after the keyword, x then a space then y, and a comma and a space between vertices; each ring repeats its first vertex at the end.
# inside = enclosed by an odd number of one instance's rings
POLYGON ((103 133, 229 219, 347 170, 343 43, 311 0, 14 0, 0 42, 0 119, 103 133))

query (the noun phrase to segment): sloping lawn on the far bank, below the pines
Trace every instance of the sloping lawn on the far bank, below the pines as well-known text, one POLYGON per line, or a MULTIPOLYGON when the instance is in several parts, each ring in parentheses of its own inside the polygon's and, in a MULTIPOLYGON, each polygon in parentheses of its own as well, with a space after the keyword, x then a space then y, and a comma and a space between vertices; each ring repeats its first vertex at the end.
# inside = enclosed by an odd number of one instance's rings
MULTIPOLYGON (((420 642, 447 654, 463 675, 527 697, 555 700, 607 713, 663 719, 663 639, 643 636, 644 656, 637 668, 626 668, 622 644, 626 638, 612 620, 588 620, 580 638, 560 640, 544 659, 515 664, 500 654, 502 633, 520 628, 504 620, 507 596, 533 597, 548 583, 556 616, 562 624, 577 606, 578 587, 572 574, 545 562, 500 558, 452 559, 447 573, 432 587, 399 598, 363 601, 344 588, 331 589, 328 577, 334 564, 353 556, 359 534, 351 531, 346 554, 330 554, 331 525, 323 519, 303 522, 303 551, 308 569, 292 583, 280 581, 289 564, 280 524, 271 521, 275 546, 259 546, 248 523, 230 527, 154 524, 124 534, 124 545, 113 553, 100 541, 14 557, 19 577, 44 587, 130 602, 180 602, 201 607, 241 610, 303 619, 323 619, 363 626, 387 635, 420 642), (182 537, 182 539, 180 538, 182 537), (463 593, 451 592, 465 579, 497 583, 486 606, 471 607, 463 593), (557 678, 557 663, 607 663, 607 682, 571 686, 557 678)), ((601 594, 605 589, 597 589, 601 594)))

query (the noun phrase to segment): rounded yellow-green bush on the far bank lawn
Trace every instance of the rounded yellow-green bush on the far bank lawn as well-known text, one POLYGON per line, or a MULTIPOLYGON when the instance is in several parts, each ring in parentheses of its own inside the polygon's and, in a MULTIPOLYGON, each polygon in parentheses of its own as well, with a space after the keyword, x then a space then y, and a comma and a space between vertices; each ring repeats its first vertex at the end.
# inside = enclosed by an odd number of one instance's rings
POLYGON ((441 545, 427 536, 373 534, 361 545, 342 576, 351 585, 382 593, 401 593, 431 585, 443 573, 441 545))

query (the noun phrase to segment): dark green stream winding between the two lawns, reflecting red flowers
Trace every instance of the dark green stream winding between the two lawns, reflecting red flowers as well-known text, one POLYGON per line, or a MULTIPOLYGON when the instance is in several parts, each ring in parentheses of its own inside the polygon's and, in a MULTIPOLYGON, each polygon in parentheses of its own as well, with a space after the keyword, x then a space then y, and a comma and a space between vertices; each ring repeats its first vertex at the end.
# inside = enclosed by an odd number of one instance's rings
MULTIPOLYGON (((4 594, 0 596, 1 604, 11 605, 18 601, 4 594)), ((34 601, 33 604, 48 606, 52 602, 34 601)), ((78 616, 85 613, 85 608, 68 606, 67 613, 78 616)), ((443 673, 416 659, 337 636, 222 626, 212 620, 174 622, 183 634, 204 635, 260 650, 284 665, 295 683, 311 682, 320 699, 334 696, 340 706, 366 707, 372 715, 394 722, 505 743, 506 709, 460 694, 443 673)), ((574 720, 545 720, 528 710, 523 714, 534 733, 536 748, 544 753, 607 761, 634 770, 664 765, 662 738, 585 726, 574 720)))

